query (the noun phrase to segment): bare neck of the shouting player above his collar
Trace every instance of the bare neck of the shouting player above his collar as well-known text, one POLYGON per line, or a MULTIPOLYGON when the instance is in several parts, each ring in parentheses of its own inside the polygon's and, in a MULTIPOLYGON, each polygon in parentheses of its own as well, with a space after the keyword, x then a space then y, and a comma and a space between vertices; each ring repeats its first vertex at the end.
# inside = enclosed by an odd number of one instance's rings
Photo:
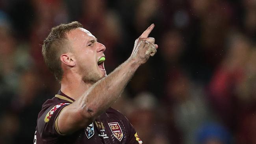
POLYGON ((63 78, 61 80, 61 92, 74 100, 78 100, 92 85, 92 83, 85 83, 81 78, 63 78))

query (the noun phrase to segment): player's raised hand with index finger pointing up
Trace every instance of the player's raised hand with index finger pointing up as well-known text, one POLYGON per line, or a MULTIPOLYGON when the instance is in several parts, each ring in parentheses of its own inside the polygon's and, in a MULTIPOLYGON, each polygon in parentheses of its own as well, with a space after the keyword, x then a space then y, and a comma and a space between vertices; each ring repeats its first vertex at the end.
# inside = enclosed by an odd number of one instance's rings
POLYGON ((135 61, 140 64, 146 63, 150 55, 154 56, 154 54, 156 54, 158 45, 155 44, 155 39, 153 37, 148 37, 153 28, 154 24, 151 24, 151 26, 149 26, 147 30, 135 40, 134 49, 130 58, 135 59, 135 61))

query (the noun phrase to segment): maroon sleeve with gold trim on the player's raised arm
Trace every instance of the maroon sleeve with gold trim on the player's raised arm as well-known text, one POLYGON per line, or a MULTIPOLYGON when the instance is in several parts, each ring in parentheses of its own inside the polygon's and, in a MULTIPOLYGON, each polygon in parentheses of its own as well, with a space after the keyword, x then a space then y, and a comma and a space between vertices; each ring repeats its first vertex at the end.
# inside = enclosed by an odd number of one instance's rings
POLYGON ((42 139, 51 139, 61 136, 58 129, 58 116, 61 110, 70 103, 59 103, 48 107, 37 120, 37 132, 42 139))

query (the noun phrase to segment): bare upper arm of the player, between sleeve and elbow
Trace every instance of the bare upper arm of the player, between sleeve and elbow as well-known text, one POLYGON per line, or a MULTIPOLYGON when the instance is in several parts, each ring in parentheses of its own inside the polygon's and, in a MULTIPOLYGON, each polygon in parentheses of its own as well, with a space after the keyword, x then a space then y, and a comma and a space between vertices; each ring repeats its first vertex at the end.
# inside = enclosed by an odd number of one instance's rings
POLYGON ((87 126, 91 120, 82 114, 82 110, 74 103, 64 107, 55 122, 56 131, 67 135, 87 126))

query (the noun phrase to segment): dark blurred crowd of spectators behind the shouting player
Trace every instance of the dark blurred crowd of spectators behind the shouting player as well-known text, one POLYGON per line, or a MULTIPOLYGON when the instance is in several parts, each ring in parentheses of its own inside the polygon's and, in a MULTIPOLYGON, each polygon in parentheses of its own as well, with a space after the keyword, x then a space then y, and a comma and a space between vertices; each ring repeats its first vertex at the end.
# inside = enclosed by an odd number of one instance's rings
POLYGON ((255 0, 0 0, 0 144, 33 141, 59 90, 43 62, 50 29, 79 21, 110 73, 152 23, 158 53, 113 107, 145 144, 256 144, 255 0))

